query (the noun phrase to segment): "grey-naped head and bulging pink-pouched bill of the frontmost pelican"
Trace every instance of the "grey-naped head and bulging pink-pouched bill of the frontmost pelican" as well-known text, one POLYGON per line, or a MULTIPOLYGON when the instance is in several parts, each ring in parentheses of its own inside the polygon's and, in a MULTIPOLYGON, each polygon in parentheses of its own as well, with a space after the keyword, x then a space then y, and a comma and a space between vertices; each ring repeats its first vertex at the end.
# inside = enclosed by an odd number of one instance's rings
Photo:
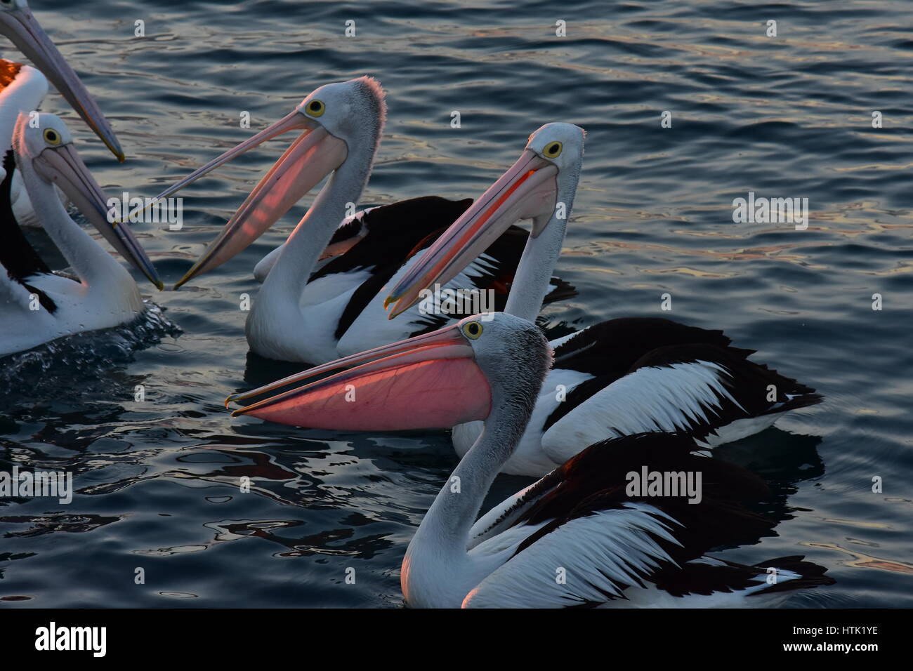
POLYGON ((523 411, 521 433, 550 366, 538 327, 495 312, 229 396, 226 405, 289 387, 232 414, 354 431, 449 428, 508 405, 523 411), (325 376, 333 371, 341 372, 325 376))

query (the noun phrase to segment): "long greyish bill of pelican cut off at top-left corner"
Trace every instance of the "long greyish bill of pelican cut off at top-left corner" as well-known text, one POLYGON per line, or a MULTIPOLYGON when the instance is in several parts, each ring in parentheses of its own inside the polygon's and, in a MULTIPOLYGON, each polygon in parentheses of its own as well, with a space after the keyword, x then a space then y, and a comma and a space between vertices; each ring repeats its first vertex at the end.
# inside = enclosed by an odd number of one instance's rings
POLYGON ((0 34, 8 37, 41 70, 101 142, 123 163, 125 157, 121 142, 118 142, 110 123, 76 72, 38 25, 26 0, 0 0, 0 34))

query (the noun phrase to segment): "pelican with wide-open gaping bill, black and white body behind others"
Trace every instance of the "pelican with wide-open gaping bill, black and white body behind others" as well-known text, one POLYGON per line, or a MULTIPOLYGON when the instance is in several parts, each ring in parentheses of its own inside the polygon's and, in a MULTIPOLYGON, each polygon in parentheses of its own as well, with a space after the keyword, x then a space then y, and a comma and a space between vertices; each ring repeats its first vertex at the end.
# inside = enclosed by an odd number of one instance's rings
MULTIPOLYGON (((247 317, 251 350, 280 361, 329 362, 476 311, 445 315, 416 308, 395 323, 386 320, 381 289, 401 277, 417 258, 415 251, 430 245, 471 201, 426 196, 344 219, 371 174, 385 116, 383 89, 374 79, 321 86, 288 116, 152 199, 176 193, 262 142, 303 131, 175 288, 234 257, 330 174, 285 244, 255 269, 263 283, 247 317)), ((526 233, 509 227, 503 234, 446 288, 492 288, 496 300, 503 299, 526 233)), ((549 300, 566 295, 560 280, 551 286, 549 300)))

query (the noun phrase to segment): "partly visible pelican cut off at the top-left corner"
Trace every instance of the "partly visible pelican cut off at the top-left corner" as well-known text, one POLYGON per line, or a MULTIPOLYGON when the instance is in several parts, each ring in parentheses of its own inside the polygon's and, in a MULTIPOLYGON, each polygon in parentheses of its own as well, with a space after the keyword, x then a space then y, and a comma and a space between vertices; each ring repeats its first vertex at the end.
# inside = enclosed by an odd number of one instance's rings
MULTIPOLYGON (((20 112, 37 110, 47 95, 48 79, 69 105, 105 143, 118 161, 124 161, 109 121, 89 94, 79 76, 47 37, 38 24, 26 0, 0 0, 0 34, 26 55, 36 66, 31 68, 16 61, 0 58, 0 87, 4 91, 0 103, 0 154, 12 145, 13 127, 20 112)), ((16 173, 12 183, 13 211, 20 225, 37 225, 35 210, 28 200, 21 176, 16 173)))

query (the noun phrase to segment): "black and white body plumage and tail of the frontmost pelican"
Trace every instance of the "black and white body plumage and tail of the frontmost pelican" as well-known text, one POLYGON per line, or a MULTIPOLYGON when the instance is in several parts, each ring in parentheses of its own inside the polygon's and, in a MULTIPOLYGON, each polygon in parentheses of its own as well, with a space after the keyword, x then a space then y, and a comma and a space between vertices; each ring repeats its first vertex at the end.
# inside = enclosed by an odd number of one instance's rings
POLYGON ((773 524, 745 508, 770 497, 759 478, 693 454, 696 449, 675 434, 605 440, 493 508, 470 531, 470 554, 501 552, 505 542, 513 554, 463 606, 770 606, 795 590, 834 582, 801 557, 745 566, 706 556, 723 545, 756 542, 773 524), (643 467, 700 472, 700 502, 629 496, 625 476, 643 467), (553 566, 565 570, 563 583, 554 580, 553 566))

